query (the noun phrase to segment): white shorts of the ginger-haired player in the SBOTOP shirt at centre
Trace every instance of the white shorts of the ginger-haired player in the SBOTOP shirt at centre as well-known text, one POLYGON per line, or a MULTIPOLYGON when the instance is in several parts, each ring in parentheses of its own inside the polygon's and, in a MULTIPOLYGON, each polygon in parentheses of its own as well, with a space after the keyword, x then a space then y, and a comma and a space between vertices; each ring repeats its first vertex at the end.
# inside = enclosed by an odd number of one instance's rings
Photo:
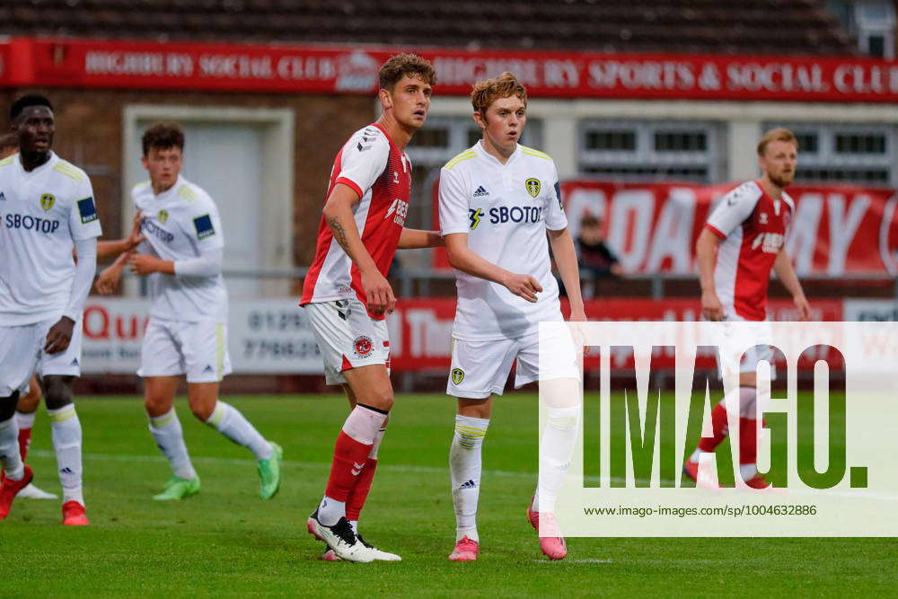
POLYGON ((493 393, 501 395, 515 358, 515 389, 533 381, 560 378, 579 380, 577 351, 568 329, 553 329, 546 341, 550 347, 543 348, 543 355, 552 359, 548 364, 541 365, 539 332, 517 339, 453 339, 452 366, 446 393, 470 400, 487 399, 493 393))

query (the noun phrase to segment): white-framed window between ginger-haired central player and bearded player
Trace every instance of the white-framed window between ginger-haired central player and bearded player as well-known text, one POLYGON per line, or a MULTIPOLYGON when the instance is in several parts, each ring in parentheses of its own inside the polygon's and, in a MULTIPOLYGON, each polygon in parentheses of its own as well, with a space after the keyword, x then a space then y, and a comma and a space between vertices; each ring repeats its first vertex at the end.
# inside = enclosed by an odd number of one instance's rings
POLYGON ((578 170, 623 180, 720 181, 726 167, 723 131, 712 122, 584 120, 578 170))

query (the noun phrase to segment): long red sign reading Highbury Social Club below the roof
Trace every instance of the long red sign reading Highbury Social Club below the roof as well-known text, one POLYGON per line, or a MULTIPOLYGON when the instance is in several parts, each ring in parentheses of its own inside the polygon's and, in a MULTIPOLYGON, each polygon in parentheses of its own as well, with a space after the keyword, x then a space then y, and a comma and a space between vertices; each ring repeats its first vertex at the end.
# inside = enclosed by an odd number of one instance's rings
POLYGON ((0 84, 259 92, 372 93, 399 51, 436 66, 440 94, 512 71, 533 97, 737 101, 898 100, 898 62, 523 50, 193 44, 14 38, 0 84))

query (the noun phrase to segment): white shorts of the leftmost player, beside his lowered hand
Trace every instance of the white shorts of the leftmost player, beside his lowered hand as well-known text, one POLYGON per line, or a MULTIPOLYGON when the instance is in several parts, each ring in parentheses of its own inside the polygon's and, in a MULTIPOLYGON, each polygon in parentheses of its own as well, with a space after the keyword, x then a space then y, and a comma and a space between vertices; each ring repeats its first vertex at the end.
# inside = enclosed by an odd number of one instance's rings
POLYGON ((75 322, 72 340, 66 351, 48 354, 44 351, 47 333, 58 318, 16 327, 0 326, 0 397, 13 392, 28 392, 31 374, 41 376, 81 374, 81 341, 84 336, 82 321, 75 322))

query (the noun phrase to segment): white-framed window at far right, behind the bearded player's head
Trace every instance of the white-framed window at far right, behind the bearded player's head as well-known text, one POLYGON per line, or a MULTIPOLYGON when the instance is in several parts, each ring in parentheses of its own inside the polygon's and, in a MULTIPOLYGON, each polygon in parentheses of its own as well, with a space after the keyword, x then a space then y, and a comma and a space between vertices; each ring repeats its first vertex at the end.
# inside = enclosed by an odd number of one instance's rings
POLYGON ((765 123, 791 129, 798 138, 796 181, 898 184, 896 131, 885 125, 765 123))

